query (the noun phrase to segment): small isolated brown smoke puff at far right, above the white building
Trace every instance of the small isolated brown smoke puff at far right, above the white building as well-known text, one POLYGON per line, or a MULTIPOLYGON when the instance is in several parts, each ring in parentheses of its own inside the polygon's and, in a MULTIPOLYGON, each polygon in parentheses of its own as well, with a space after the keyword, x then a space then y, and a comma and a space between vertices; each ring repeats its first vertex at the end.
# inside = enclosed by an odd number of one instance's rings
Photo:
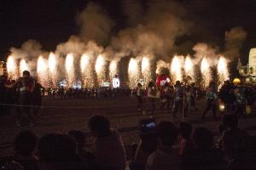
POLYGON ((232 28, 225 32, 224 56, 234 59, 240 57, 240 49, 247 38, 247 31, 241 26, 232 28))

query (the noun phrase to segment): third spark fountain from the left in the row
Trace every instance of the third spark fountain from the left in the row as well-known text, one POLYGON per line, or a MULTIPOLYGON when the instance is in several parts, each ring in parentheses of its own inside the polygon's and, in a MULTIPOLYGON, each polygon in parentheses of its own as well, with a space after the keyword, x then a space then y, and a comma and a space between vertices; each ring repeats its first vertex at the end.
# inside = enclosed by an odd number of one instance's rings
POLYGON ((49 80, 48 80, 48 68, 47 68, 47 61, 43 58, 43 56, 38 57, 38 82, 45 88, 48 87, 49 80))

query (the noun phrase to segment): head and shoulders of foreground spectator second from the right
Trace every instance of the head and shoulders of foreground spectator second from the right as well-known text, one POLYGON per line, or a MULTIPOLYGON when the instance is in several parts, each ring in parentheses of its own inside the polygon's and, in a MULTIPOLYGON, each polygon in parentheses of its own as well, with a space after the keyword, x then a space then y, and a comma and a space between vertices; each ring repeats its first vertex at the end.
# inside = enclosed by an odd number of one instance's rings
POLYGON ((182 169, 212 170, 225 169, 224 156, 213 149, 213 135, 206 127, 198 127, 193 134, 195 150, 183 155, 182 169))

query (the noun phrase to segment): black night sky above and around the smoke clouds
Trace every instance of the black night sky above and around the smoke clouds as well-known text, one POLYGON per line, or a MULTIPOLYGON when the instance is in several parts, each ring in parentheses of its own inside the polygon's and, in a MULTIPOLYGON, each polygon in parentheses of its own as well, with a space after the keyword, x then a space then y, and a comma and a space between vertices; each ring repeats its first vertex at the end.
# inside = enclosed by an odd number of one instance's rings
MULTIPOLYGON (((147 5, 147 0, 138 0, 147 5)), ((88 0, 1 0, 0 1, 0 55, 10 47, 20 48, 22 42, 35 39, 45 50, 55 50, 60 42, 79 34, 75 17, 88 0)), ((122 0, 97 0, 115 22, 113 33, 126 26, 122 13, 122 0)), ((256 47, 256 1, 254 0, 180 0, 187 8, 187 18, 204 29, 191 30, 180 42, 211 42, 224 48, 224 31, 242 26, 247 31, 247 41, 241 54, 256 47)))

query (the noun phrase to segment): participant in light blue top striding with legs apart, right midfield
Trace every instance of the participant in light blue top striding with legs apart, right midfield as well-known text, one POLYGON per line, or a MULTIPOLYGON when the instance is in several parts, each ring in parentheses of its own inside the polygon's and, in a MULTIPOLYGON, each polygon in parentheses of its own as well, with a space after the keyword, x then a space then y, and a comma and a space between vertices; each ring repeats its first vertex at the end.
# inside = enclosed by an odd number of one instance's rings
POLYGON ((214 88, 212 88, 212 87, 207 88, 206 99, 207 99, 207 108, 203 112, 203 114, 201 116, 201 119, 204 120, 207 112, 212 109, 213 118, 215 120, 217 120, 217 116, 216 116, 216 111, 217 111, 217 102, 216 102, 217 94, 216 94, 214 88))

